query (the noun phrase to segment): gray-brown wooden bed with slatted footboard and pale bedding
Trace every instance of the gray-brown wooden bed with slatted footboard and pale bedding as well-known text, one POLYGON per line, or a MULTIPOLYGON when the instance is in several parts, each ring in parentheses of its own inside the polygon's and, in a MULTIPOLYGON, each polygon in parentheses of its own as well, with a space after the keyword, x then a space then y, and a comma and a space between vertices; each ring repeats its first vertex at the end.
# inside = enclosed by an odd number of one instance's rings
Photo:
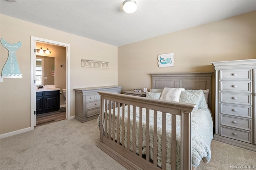
POLYGON ((170 97, 166 95, 168 89, 182 89, 179 98, 186 95, 189 98, 182 102, 99 91, 100 142, 97 146, 128 169, 188 170, 198 166, 201 160, 208 162, 213 136, 211 75, 151 74, 151 90, 164 89, 160 94, 151 95, 170 97), (208 103, 205 108, 199 100, 203 90, 209 90, 208 97, 202 98, 208 103), (191 97, 191 94, 197 96, 191 97))

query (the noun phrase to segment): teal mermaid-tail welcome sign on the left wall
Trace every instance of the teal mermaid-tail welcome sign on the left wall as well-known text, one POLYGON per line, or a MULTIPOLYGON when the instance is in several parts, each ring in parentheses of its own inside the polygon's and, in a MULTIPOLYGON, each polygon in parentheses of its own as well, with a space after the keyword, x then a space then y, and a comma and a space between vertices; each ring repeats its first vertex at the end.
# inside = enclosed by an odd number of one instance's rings
POLYGON ((8 59, 2 69, 2 78, 22 78, 15 54, 15 51, 20 48, 21 42, 11 44, 1 38, 1 43, 9 51, 8 59))

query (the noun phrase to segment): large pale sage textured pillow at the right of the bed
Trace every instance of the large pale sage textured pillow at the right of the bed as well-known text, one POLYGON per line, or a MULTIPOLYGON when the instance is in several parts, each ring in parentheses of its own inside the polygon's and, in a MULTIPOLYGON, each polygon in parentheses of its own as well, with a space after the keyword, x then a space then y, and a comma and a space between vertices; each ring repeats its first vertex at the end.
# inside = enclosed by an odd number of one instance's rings
POLYGON ((207 109, 203 90, 185 90, 181 92, 180 102, 196 104, 195 109, 207 109))

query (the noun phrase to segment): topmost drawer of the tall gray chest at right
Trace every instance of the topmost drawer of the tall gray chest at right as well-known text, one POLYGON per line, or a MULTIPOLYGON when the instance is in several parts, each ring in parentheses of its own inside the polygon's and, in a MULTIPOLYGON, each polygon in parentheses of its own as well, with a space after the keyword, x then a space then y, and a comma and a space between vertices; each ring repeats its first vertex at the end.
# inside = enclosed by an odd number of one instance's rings
POLYGON ((251 80, 251 70, 220 70, 220 80, 225 79, 251 80))

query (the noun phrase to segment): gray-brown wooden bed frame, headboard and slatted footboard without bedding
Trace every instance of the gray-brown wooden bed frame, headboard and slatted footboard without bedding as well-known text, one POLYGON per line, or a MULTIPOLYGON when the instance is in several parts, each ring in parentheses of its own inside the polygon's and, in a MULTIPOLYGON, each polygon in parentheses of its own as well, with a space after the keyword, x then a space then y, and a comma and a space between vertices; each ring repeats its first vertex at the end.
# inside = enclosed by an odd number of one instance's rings
MULTIPOLYGON (((152 88, 153 89, 164 89, 164 87, 172 88, 185 88, 185 89, 209 89, 208 97, 208 107, 211 108, 211 76, 212 72, 208 73, 167 73, 167 74, 151 74, 152 77, 152 88)), ((118 117, 120 111, 120 105, 133 105, 140 107, 140 113, 142 108, 147 109, 147 115, 149 109, 162 112, 162 134, 166 134, 166 114, 172 113, 172 152, 171 157, 174 162, 171 164, 172 169, 176 169, 176 115, 180 115, 181 119, 181 170, 190 170, 196 167, 192 167, 192 156, 191 156, 191 131, 190 131, 190 121, 191 121, 191 111, 196 107, 196 105, 188 103, 179 103, 164 101, 159 99, 150 99, 146 97, 138 97, 124 94, 108 93, 108 92, 98 92, 101 95, 101 115, 100 115, 100 142, 97 143, 97 146, 122 164, 125 168, 131 170, 138 169, 156 169, 156 170, 165 170, 166 169, 166 135, 162 135, 162 167, 157 166, 157 161, 152 161, 149 156, 149 116, 146 119, 146 154, 142 154, 142 119, 140 119, 140 128, 139 128, 139 154, 136 154, 135 144, 133 145, 133 151, 130 151, 130 131, 127 130, 127 148, 124 147, 124 144, 119 141, 119 119, 114 119, 117 121, 117 141, 104 132, 103 129, 111 129, 109 127, 103 128, 103 120, 107 120, 107 110, 109 106, 112 106, 114 109, 118 109, 118 117), (164 163, 163 163, 164 162, 164 163)), ((124 107, 123 108, 123 117, 124 117, 124 107)), ((128 109, 128 113, 130 109, 128 109)), ((135 112, 135 110, 134 110, 135 112)), ((110 116, 111 114, 109 114, 110 116)), ((134 114, 135 115, 135 114, 134 114)), ((156 114, 154 114, 156 115, 156 114)), ((114 117, 114 116, 113 116, 114 117)), ((128 114, 128 120, 130 120, 130 115, 128 114)), ((111 117, 109 117, 111 119, 111 117)), ((135 119, 135 117, 134 117, 135 119)), ((155 120, 155 118, 154 118, 155 120)), ((122 134, 124 134, 124 119, 122 119, 122 134)), ((107 125, 107 124, 106 124, 107 125)), ((135 124, 134 124, 135 125, 135 124)), ((156 144, 157 141, 157 126, 154 122, 154 153, 157 153, 156 144)), ((127 128, 130 128, 130 122, 127 123, 127 128)), ((134 128, 135 129, 135 126, 134 128)), ((111 130, 110 130, 111 131, 111 130)), ((111 132, 112 133, 112 132, 111 132)), ((113 134, 114 134, 113 130, 113 134)), ((133 131, 135 135, 136 131, 133 131)), ((122 141, 124 141, 124 135, 121 136, 122 141)), ((132 140, 135 143, 135 136, 132 140)), ((157 155, 154 154, 154 160, 157 160, 157 155)))

